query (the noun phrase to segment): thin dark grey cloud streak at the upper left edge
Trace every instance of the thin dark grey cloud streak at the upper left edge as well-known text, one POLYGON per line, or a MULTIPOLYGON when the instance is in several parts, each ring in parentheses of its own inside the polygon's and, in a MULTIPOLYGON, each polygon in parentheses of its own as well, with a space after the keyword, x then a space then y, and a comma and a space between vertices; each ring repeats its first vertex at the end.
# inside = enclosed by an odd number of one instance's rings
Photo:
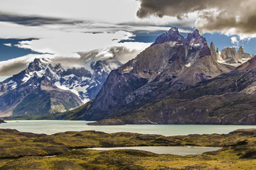
POLYGON ((68 21, 63 18, 44 18, 41 16, 18 16, 0 12, 0 21, 17 23, 24 26, 42 26, 49 24, 74 24, 80 21, 68 21))

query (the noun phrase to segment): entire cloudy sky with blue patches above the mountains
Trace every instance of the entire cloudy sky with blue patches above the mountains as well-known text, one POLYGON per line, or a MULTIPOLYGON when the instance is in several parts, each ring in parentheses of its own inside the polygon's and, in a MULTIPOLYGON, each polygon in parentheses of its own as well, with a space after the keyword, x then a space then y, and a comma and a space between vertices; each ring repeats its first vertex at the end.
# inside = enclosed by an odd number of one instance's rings
POLYGON ((255 8, 254 0, 1 0, 0 81, 36 57, 86 67, 92 60, 72 63, 79 52, 97 51, 95 60, 122 47, 124 63, 172 26, 184 37, 198 28, 220 50, 256 54, 255 8))

